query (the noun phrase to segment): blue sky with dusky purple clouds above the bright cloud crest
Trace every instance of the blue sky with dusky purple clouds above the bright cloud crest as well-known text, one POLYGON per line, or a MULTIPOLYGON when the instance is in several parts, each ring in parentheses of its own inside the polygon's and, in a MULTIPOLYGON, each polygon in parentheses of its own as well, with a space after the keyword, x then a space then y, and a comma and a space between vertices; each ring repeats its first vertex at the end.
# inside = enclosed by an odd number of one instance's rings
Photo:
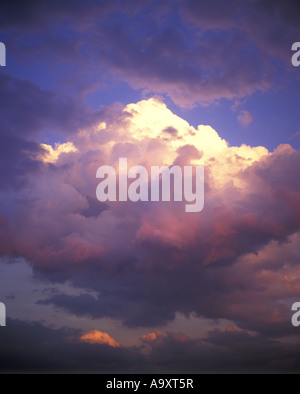
MULTIPOLYGON (((291 5, 275 2, 267 12, 268 2, 252 6, 251 2, 244 6, 229 2, 223 18, 214 11, 218 10, 214 1, 153 1, 143 7, 129 1, 122 8, 103 2, 94 7, 94 15, 89 6, 82 11, 77 4, 66 16, 53 10, 46 20, 41 18, 43 26, 37 19, 26 26, 19 20, 12 23, 2 32, 8 52, 5 71, 66 97, 80 94, 92 108, 159 95, 176 114, 194 126, 212 125, 231 145, 263 145, 271 150, 280 143, 299 147, 295 136, 300 127, 299 70, 290 61, 297 28, 293 33, 294 21, 288 24, 291 5), (282 8, 284 17, 274 17, 277 8, 282 8), (262 21, 257 29, 260 35, 255 32, 256 15, 262 21), (276 28, 284 32, 280 40, 276 28), (151 60, 153 71, 147 80, 151 60), (136 69, 128 69, 130 61, 136 69), (168 65, 174 72, 169 81, 168 65), (237 80, 231 75, 233 69, 237 80), (185 72, 194 75, 189 80, 185 72), (177 85, 182 78, 185 99, 179 98, 178 91, 170 93, 172 78, 177 78, 177 85), (223 90, 218 90, 218 81, 224 84, 223 90), (238 121, 241 111, 251 115, 248 125, 238 121)), ((33 8, 29 6, 28 12, 33 8)), ((37 8, 33 15, 42 13, 43 6, 37 8)))

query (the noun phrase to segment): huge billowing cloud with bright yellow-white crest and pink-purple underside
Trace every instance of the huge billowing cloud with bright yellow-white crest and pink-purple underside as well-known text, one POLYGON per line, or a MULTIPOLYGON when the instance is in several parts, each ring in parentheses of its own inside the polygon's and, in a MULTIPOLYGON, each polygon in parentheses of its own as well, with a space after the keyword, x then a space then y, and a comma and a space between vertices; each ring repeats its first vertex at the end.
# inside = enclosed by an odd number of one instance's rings
POLYGON ((57 290, 38 305, 152 333, 177 313, 193 313, 269 339, 294 334, 298 151, 229 146, 211 127, 192 127, 157 99, 114 108, 113 117, 69 135, 69 142, 76 152, 44 163, 9 199, 0 195, 2 255, 23 256, 41 278, 81 289, 57 290), (204 165, 204 210, 187 214, 181 202, 98 202, 96 170, 116 167, 120 157, 148 169, 204 165))

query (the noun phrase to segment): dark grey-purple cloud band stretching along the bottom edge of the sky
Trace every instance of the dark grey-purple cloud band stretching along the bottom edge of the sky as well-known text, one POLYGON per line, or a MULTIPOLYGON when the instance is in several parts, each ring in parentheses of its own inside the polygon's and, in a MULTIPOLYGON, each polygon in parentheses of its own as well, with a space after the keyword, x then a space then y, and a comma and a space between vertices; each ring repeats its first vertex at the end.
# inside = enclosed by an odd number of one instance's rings
POLYGON ((147 345, 145 354, 139 347, 81 343, 76 330, 11 319, 7 323, 0 336, 2 372, 296 373, 300 366, 293 345, 230 328, 211 331, 202 340, 167 333, 147 345))

